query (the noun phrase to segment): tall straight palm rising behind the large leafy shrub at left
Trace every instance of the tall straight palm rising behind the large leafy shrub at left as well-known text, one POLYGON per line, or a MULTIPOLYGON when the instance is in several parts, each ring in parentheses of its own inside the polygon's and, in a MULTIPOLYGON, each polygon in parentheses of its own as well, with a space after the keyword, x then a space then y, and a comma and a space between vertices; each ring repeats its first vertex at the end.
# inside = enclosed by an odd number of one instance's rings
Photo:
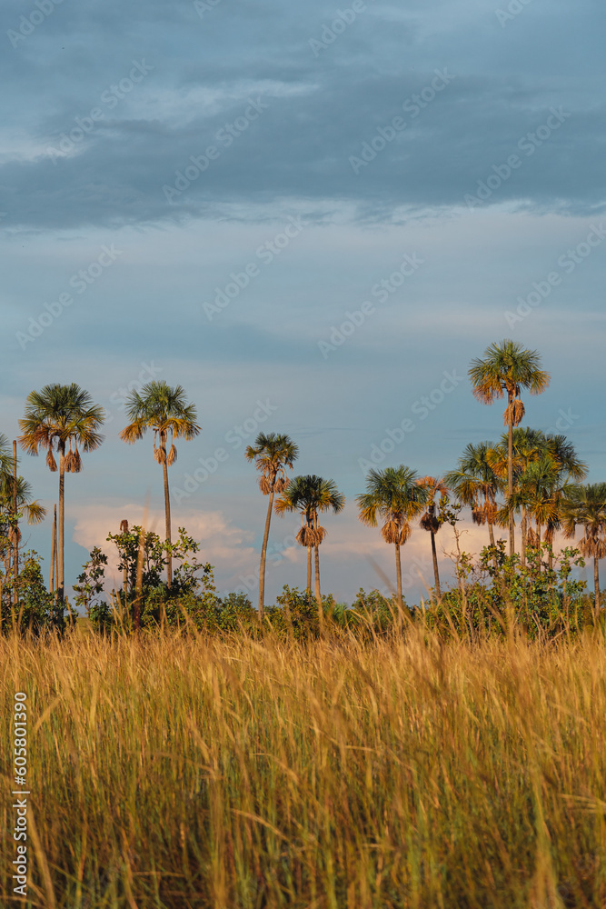
POLYGON ((128 445, 134 445, 142 439, 144 433, 154 431, 154 458, 162 464, 164 472, 164 514, 166 519, 166 582, 173 583, 173 560, 171 556, 171 497, 168 488, 168 467, 177 459, 174 439, 184 438, 190 441, 200 432, 195 422, 197 415, 195 405, 186 404, 185 391, 182 385, 171 388, 165 382, 148 382, 141 389, 126 399, 126 413, 131 421, 120 433, 120 438, 128 445), (156 442, 158 445, 156 445, 156 442), (170 449, 166 447, 170 442, 170 449))

